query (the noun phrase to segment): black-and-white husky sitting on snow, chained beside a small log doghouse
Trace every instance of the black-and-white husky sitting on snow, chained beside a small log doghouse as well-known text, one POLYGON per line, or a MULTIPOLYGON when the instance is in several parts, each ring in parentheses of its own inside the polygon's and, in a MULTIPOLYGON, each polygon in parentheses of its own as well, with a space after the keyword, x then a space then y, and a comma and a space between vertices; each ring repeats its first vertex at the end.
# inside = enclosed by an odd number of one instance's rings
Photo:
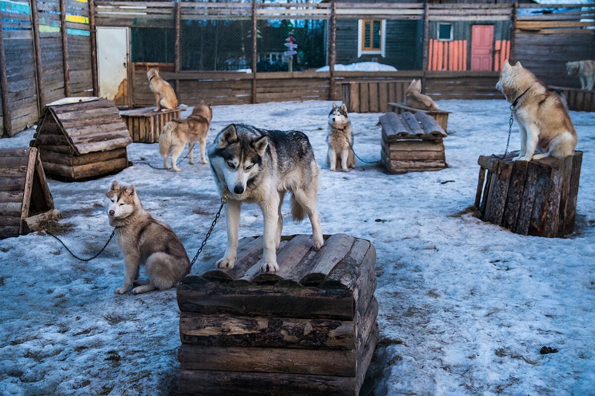
POLYGON ((333 103, 331 112, 328 113, 328 153, 327 165, 330 170, 337 169, 337 163, 341 164, 343 172, 349 172, 349 168, 355 168, 355 156, 353 156, 353 134, 351 133, 351 122, 347 116, 345 103, 337 107, 333 103))

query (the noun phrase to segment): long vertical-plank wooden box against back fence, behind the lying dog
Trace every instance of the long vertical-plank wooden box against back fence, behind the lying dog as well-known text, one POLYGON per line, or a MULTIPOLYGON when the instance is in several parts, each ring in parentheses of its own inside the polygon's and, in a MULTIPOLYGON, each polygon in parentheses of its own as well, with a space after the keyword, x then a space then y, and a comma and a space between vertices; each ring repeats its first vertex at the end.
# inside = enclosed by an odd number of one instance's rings
POLYGON ((405 80, 355 80, 341 83, 343 103, 347 112, 384 113, 390 102, 405 100, 411 79, 405 80))

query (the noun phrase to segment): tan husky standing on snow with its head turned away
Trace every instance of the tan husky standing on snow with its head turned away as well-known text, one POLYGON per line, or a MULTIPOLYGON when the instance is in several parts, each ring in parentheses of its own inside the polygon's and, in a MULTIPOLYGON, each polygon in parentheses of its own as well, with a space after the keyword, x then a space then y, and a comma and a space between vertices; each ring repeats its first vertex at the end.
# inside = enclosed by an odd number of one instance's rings
POLYGON ((163 157, 163 167, 165 169, 170 169, 167 166, 167 157, 170 156, 170 153, 173 153, 171 155, 171 167, 176 172, 181 171, 176 166, 176 161, 184 150, 186 142, 189 142, 188 162, 190 164, 194 163, 194 145, 196 141, 199 141, 201 144, 201 162, 206 164, 206 135, 209 133, 212 118, 211 105, 201 101, 192 110, 192 114, 188 118, 176 118, 163 126, 163 132, 159 135, 159 153, 163 157))

